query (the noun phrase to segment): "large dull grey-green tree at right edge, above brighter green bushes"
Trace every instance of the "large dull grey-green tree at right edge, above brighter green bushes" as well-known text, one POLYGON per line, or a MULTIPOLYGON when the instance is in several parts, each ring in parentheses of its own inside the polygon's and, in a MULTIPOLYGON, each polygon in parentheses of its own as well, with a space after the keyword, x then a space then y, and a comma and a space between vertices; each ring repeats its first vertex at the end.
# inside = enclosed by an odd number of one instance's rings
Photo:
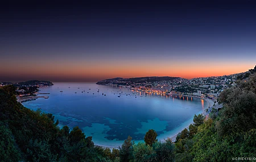
POLYGON ((238 86, 224 90, 219 101, 224 103, 217 121, 219 135, 243 132, 256 128, 256 75, 238 86), (253 89, 252 89, 253 88, 253 89))

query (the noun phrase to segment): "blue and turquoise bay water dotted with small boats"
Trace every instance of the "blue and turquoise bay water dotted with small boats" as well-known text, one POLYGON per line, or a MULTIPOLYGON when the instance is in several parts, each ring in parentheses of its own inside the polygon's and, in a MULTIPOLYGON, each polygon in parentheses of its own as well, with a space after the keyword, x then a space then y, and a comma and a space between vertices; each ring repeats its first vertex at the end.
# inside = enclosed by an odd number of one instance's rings
POLYGON ((93 136, 95 144, 109 147, 121 146, 129 135, 139 142, 149 129, 154 129, 158 139, 163 140, 183 130, 195 114, 208 107, 199 98, 146 95, 128 88, 91 83, 55 83, 40 88, 39 93, 50 93, 49 98, 23 105, 52 113, 59 119, 60 127, 79 126, 86 136, 93 136))

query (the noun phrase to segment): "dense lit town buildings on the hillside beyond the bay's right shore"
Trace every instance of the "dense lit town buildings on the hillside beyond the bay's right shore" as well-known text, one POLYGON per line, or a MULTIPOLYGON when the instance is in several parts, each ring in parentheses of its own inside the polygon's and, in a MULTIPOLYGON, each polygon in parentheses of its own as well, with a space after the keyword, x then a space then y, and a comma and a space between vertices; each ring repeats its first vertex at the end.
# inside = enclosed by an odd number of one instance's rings
MULTIPOLYGON (((149 93, 161 93, 172 95, 193 95, 199 97, 208 97, 216 99, 222 90, 236 85, 237 76, 239 74, 232 74, 229 76, 219 77, 201 77, 192 78, 190 80, 185 78, 175 78, 168 81, 156 82, 142 82, 127 84, 127 88, 134 90, 141 90, 149 93)), ((118 82, 108 84, 110 86, 118 86, 118 82)), ((119 85, 123 85, 119 84, 119 85)))

